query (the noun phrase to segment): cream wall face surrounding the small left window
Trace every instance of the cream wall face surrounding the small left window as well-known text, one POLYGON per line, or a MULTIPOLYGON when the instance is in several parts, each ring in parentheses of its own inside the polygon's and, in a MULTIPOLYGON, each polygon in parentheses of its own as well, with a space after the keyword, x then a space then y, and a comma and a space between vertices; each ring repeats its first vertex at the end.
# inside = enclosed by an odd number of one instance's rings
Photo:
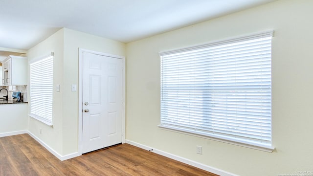
MULTIPOLYGON (((28 62, 34 59, 46 56, 54 51, 53 59, 53 84, 60 84, 61 91, 56 92, 53 90, 53 128, 43 124, 42 122, 28 117, 28 131, 33 133, 40 140, 45 142, 51 149, 58 154, 63 153, 63 124, 62 124, 62 109, 63 109, 63 55, 64 55, 64 29, 59 30, 55 34, 51 35, 45 41, 32 47, 27 52, 28 62), (40 129, 42 133, 40 134, 40 129)), ((29 66, 28 66, 29 70, 29 66)), ((29 71, 28 71, 29 74, 29 71)), ((29 75, 28 75, 29 78, 29 75)), ((29 85, 29 79, 28 79, 29 85)), ((29 90, 28 90, 29 95, 29 90)), ((28 98, 28 100, 30 100, 28 98)), ((29 112, 28 104, 28 112, 29 112)))

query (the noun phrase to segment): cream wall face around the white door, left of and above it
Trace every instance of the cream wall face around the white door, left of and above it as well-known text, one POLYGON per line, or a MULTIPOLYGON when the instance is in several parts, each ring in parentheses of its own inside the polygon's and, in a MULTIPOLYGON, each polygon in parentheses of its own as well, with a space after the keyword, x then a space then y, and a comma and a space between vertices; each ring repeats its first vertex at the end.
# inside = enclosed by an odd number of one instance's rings
MULTIPOLYGON (((63 154, 78 151, 78 91, 71 91, 71 84, 78 86, 78 48, 125 56, 125 44, 83 32, 64 29, 63 60, 63 154)), ((78 87, 77 87, 78 88, 78 87)))

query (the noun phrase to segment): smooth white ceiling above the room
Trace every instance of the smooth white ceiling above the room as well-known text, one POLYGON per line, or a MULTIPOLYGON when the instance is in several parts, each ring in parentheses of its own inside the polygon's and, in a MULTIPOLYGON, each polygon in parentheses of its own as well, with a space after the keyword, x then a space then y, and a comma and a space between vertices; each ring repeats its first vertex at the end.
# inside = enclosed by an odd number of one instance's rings
POLYGON ((0 49, 27 50, 62 27, 128 43, 271 1, 0 0, 0 49))

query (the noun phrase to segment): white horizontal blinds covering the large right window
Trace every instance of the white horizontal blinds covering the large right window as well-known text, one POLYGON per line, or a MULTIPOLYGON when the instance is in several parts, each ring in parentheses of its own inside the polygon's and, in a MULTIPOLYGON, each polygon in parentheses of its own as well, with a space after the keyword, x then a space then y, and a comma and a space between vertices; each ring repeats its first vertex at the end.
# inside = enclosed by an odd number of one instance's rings
POLYGON ((271 35, 160 54, 161 126, 269 145, 271 35))

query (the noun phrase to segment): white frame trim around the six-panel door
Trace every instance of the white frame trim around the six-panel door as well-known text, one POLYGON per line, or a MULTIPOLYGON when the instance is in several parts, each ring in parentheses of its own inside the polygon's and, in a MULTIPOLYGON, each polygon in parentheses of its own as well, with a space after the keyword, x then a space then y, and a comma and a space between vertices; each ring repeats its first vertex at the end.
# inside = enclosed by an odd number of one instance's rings
POLYGON ((79 48, 79 61, 78 61, 78 153, 82 154, 83 145, 83 53, 88 52, 92 54, 97 54, 101 56, 108 56, 113 58, 122 59, 122 143, 125 143, 125 57, 118 56, 108 53, 102 53, 97 51, 92 51, 88 49, 79 48))

